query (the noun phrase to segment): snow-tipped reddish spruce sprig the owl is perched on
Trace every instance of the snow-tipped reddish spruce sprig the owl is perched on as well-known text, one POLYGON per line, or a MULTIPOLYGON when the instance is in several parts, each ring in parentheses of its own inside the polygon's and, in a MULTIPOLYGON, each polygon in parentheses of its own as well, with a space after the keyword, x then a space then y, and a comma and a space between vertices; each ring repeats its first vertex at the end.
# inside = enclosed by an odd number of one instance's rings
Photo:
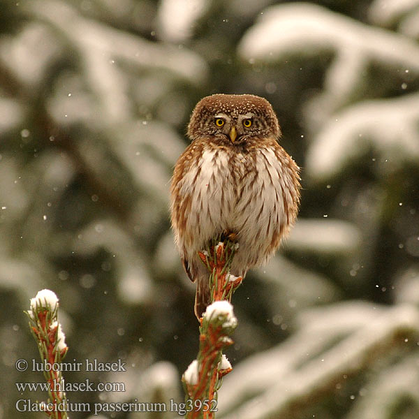
POLYGON ((189 419, 214 419, 216 397, 222 378, 232 367, 223 348, 233 344, 230 335, 237 326, 237 318, 230 304, 231 296, 242 283, 242 277, 230 274, 230 266, 237 244, 226 240, 212 240, 210 247, 199 253, 207 267, 211 302, 200 319, 199 352, 182 377, 186 401, 191 401, 189 419))

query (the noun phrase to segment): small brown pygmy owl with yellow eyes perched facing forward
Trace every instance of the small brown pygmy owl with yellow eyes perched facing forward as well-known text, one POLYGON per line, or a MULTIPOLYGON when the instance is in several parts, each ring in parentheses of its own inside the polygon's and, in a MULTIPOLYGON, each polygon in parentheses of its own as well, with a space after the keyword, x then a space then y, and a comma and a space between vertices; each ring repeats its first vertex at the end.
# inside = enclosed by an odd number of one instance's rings
POLYGON ((231 274, 244 277, 279 247, 300 203, 299 168, 278 144, 270 103, 249 94, 214 94, 193 110, 191 145, 176 163, 171 185, 175 242, 191 281, 195 314, 210 304, 207 268, 198 251, 217 235, 239 244, 231 274))

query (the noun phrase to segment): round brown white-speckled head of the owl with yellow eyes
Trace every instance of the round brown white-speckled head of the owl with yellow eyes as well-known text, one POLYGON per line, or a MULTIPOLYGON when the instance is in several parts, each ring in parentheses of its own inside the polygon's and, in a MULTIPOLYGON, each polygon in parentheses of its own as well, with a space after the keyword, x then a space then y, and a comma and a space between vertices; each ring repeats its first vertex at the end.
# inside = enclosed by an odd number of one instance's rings
POLYGON ((266 99, 252 94, 213 94, 197 103, 188 135, 191 140, 207 136, 237 145, 247 138, 278 138, 280 130, 266 99))

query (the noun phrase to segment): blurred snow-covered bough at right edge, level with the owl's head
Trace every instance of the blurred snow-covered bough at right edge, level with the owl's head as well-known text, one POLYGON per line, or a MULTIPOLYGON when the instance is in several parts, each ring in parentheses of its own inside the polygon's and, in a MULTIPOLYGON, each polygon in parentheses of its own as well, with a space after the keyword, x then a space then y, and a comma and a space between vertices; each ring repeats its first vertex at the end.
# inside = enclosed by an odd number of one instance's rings
MULTIPOLYGON (((306 170, 325 180, 370 149, 385 156, 386 170, 419 162, 419 94, 367 101, 337 113, 316 135, 307 152, 306 170)), ((377 163, 378 164, 378 163, 377 163)))

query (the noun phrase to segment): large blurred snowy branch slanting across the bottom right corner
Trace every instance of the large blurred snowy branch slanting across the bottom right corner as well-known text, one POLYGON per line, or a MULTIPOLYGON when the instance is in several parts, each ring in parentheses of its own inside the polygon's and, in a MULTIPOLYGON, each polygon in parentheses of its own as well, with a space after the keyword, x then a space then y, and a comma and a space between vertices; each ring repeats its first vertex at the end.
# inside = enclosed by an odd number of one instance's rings
POLYGON ((352 302, 315 313, 308 312, 300 332, 284 344, 235 367, 219 396, 223 418, 296 417, 337 383, 343 387, 391 357, 396 346, 416 348, 419 311, 411 305, 385 309, 352 302))

